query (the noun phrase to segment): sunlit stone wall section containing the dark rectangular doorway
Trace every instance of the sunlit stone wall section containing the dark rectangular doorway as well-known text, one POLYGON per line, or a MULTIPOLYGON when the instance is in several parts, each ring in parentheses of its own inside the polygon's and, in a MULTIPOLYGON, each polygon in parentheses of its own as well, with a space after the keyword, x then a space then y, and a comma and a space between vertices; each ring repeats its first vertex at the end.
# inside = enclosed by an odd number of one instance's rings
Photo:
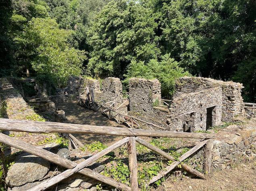
POLYGON ((221 106, 221 87, 179 94, 172 100, 167 123, 176 131, 206 130, 221 124, 221 106))

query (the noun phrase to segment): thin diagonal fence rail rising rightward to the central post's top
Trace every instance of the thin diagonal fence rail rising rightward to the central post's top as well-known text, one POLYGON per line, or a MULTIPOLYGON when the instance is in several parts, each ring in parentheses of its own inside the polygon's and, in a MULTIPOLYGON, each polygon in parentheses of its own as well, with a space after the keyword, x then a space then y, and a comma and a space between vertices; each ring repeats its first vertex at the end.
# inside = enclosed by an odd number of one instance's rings
POLYGON ((42 191, 46 190, 47 188, 51 187, 52 185, 55 185, 56 183, 66 179, 67 177, 73 175, 74 173, 77 173, 84 167, 90 165, 94 161, 98 160, 100 157, 108 154, 112 150, 118 148, 119 146, 122 146, 123 144, 127 143, 129 141, 129 137, 123 138, 122 140, 119 140, 118 142, 112 144, 108 148, 105 148, 104 150, 98 152, 97 154, 94 154, 90 158, 86 159, 85 161, 77 164, 73 169, 68 169, 55 177, 48 179, 47 181, 44 181, 40 183, 39 185, 36 185, 35 187, 29 189, 29 191, 42 191))

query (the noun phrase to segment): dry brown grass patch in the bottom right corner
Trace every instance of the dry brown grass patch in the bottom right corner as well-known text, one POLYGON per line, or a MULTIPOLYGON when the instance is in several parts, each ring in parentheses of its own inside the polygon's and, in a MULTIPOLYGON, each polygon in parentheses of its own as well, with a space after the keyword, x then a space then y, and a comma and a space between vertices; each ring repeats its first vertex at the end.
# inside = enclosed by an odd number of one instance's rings
MULTIPOLYGON (((179 178, 177 178, 179 179, 179 178)), ((167 179, 158 191, 255 191, 256 161, 239 164, 233 169, 214 172, 211 179, 184 177, 176 182, 167 179)))

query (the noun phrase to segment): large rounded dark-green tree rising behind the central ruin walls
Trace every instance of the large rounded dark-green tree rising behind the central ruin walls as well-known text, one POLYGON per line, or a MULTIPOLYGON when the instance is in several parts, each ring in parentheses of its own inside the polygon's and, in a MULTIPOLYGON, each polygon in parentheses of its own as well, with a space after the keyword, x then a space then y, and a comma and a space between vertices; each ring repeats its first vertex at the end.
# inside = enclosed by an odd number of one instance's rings
POLYGON ((160 49, 152 10, 134 1, 110 2, 87 33, 92 46, 87 72, 95 77, 123 77, 132 60, 148 63, 160 49))

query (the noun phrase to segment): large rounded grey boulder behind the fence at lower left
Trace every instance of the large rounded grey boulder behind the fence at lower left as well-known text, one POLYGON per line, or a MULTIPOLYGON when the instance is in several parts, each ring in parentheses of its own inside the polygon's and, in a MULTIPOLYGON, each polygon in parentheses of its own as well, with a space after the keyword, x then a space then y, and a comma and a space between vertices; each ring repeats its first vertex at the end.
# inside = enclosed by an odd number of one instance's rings
POLYGON ((38 156, 23 153, 17 156, 6 176, 8 186, 21 186, 37 181, 48 173, 50 163, 38 156))

